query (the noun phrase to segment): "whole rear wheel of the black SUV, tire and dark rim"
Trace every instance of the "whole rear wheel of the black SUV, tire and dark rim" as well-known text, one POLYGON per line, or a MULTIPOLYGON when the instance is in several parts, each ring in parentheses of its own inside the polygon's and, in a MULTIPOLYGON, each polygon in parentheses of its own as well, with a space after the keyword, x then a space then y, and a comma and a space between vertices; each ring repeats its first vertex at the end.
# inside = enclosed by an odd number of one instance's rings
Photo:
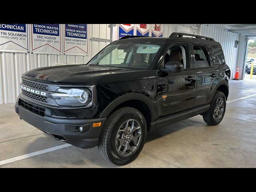
POLYGON ((202 114, 204 122, 208 125, 218 125, 226 111, 226 96, 221 91, 216 91, 210 103, 210 109, 202 114))

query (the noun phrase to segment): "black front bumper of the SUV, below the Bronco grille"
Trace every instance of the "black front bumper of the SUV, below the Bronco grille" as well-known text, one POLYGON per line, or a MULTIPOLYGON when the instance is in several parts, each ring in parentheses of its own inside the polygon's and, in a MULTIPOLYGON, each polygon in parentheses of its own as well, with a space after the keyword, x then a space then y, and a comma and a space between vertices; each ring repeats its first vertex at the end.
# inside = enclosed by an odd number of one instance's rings
POLYGON ((57 140, 62 140, 79 148, 92 148, 97 146, 100 131, 106 118, 98 119, 60 119, 41 116, 18 103, 15 104, 16 113, 36 128, 48 133, 57 140), (94 122, 101 122, 101 126, 92 127, 94 122), (82 132, 79 127, 83 126, 82 132))

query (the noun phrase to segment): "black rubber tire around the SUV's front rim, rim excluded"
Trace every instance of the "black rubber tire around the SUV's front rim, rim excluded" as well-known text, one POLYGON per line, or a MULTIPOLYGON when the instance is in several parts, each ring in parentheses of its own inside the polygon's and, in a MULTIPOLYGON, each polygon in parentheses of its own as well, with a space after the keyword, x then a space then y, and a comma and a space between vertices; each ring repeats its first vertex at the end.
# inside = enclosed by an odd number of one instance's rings
POLYGON ((140 111, 131 107, 120 108, 113 112, 106 119, 106 122, 104 123, 102 131, 100 133, 98 150, 103 159, 107 160, 108 162, 120 166, 126 165, 135 160, 140 154, 146 140, 146 133, 146 120, 140 111), (118 154, 118 151, 116 149, 116 136, 118 134, 120 126, 122 126, 122 124, 129 119, 134 119, 139 122, 141 127, 141 140, 138 149, 136 149, 136 151, 134 151, 134 153, 130 154, 129 156, 124 157, 118 154))

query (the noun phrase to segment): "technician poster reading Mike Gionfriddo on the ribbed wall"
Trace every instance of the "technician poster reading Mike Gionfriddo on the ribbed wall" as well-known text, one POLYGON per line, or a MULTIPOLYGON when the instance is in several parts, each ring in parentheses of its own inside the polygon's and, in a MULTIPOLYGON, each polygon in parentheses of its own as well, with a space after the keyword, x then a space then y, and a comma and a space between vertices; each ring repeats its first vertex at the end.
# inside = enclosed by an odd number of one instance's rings
POLYGON ((64 53, 67 55, 88 54, 88 25, 65 24, 64 53))

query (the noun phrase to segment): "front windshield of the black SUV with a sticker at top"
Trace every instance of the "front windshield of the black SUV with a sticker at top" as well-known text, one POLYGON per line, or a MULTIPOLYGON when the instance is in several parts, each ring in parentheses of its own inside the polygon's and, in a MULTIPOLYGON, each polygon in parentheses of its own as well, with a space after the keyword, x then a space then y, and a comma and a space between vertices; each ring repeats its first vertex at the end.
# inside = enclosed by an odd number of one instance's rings
POLYGON ((156 55, 163 46, 163 43, 110 44, 88 65, 148 69, 153 65, 156 55))

